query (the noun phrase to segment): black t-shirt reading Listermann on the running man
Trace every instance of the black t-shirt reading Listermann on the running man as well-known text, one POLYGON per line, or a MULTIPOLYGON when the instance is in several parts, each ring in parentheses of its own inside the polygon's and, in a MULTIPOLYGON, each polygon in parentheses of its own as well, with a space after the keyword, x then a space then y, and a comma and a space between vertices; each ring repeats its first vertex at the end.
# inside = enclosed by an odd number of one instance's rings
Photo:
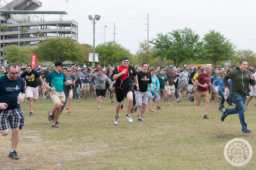
MULTIPOLYGON (((142 71, 137 72, 140 92, 148 91, 148 83, 152 83, 151 74, 149 72, 143 73, 142 71)), ((137 91, 137 86, 134 86, 134 90, 137 91)))

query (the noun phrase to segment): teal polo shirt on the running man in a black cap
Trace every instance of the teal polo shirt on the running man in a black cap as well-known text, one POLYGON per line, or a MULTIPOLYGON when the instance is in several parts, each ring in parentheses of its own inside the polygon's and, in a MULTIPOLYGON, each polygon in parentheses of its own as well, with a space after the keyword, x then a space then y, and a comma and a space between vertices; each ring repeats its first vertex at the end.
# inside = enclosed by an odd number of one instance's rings
MULTIPOLYGON (((45 82, 50 83, 49 85, 53 87, 55 85, 55 91, 60 92, 63 91, 63 82, 66 82, 65 74, 60 71, 57 73, 55 70, 51 71, 47 74, 45 82)), ((51 91, 51 90, 50 90, 51 91)))

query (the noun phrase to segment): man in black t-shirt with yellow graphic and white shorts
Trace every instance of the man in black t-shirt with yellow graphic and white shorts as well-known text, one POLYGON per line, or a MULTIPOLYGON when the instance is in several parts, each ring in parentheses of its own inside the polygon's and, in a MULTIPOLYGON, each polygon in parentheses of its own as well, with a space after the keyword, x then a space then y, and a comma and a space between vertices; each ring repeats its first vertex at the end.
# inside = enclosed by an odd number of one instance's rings
POLYGON ((26 66, 26 71, 24 71, 20 77, 25 78, 26 98, 28 98, 28 106, 30 109, 29 116, 33 116, 33 100, 36 101, 39 95, 37 78, 39 78, 43 86, 44 80, 36 70, 31 69, 31 65, 26 66))

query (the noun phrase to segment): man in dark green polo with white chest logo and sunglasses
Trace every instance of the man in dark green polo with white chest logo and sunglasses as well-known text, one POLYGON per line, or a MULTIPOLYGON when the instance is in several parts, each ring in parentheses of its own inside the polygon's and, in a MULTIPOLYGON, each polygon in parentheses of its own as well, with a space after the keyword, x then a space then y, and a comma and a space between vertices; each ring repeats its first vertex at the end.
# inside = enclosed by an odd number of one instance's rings
MULTIPOLYGON (((160 67, 160 73, 156 74, 156 77, 159 80, 160 83, 160 88, 158 90, 158 94, 161 96, 161 99, 164 99, 165 96, 165 85, 167 86, 166 88, 169 90, 169 83, 168 83, 168 79, 167 79, 167 75, 164 74, 165 72, 165 68, 164 67, 160 67)), ((171 100, 171 99, 170 99, 171 100)), ((157 102, 157 109, 161 110, 161 108, 159 107, 159 102, 160 100, 156 100, 157 102)))

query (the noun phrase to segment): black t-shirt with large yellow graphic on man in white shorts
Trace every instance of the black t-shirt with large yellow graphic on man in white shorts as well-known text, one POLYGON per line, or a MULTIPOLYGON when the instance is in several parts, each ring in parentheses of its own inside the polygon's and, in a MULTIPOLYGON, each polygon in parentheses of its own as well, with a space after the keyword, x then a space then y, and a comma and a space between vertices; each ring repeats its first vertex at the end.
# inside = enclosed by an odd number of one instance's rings
POLYGON ((36 70, 31 70, 30 73, 28 73, 27 71, 24 71, 21 75, 21 78, 25 78, 26 80, 26 86, 29 87, 37 87, 38 83, 37 83, 37 78, 40 77, 40 74, 36 71, 36 70))

